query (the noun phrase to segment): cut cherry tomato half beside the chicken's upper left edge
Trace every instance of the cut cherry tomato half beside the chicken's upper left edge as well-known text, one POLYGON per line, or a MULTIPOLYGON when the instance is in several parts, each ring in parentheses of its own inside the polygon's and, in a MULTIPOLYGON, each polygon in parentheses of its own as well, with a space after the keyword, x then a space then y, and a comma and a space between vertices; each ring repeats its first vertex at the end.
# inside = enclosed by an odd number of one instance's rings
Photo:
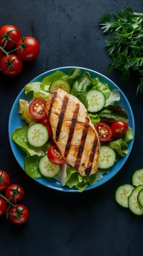
POLYGON ((29 105, 29 114, 36 119, 46 117, 45 113, 46 101, 44 99, 35 99, 29 105))

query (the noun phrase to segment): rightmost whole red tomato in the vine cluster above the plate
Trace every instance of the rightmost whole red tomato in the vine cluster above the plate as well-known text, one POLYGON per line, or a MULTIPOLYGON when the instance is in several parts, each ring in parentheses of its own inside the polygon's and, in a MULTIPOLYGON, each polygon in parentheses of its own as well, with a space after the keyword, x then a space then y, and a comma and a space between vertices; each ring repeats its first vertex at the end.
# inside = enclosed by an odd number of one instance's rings
POLYGON ((20 38, 17 42, 16 48, 20 46, 22 46, 22 48, 16 49, 16 53, 22 61, 33 61, 39 54, 39 43, 32 36, 20 38))

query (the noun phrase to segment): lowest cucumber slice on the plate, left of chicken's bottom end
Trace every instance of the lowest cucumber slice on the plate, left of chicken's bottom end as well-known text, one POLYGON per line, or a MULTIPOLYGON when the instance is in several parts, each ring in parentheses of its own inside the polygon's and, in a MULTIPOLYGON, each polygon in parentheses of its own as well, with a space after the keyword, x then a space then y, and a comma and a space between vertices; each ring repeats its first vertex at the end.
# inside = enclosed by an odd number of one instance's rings
POLYGON ((52 164, 48 159, 47 154, 44 155, 39 161, 39 171, 40 173, 48 178, 53 178, 61 170, 61 165, 52 164))

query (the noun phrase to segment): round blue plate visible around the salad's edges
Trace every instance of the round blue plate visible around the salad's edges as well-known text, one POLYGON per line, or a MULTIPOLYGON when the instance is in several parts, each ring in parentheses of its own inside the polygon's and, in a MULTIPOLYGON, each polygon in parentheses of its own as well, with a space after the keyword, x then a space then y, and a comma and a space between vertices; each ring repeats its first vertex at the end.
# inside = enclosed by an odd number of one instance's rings
MULTIPOLYGON (((71 67, 59 67, 59 68, 56 68, 56 69, 53 69, 53 70, 49 70, 49 71, 44 72, 43 74, 40 74, 39 76, 35 77, 35 79, 33 79, 30 82, 35 82, 35 81, 41 82, 45 76, 48 76, 48 75, 52 74, 56 70, 61 70, 61 71, 65 72, 66 74, 68 74, 69 70, 71 70, 73 68, 76 68, 76 67, 72 67, 72 66, 71 67)), ((106 76, 104 76, 104 75, 102 75, 98 72, 95 72, 93 70, 89 70, 89 69, 83 68, 83 67, 79 67, 79 68, 82 72, 85 72, 85 71, 89 72, 91 74, 91 77, 99 77, 100 80, 103 83, 108 83, 111 90, 113 90, 113 89, 118 89, 119 90, 121 99, 120 99, 118 105, 121 106, 124 110, 126 110, 126 113, 128 115, 128 118, 129 118, 128 125, 132 128, 133 134, 134 134, 135 128, 134 128, 134 116, 133 116, 133 113, 132 113, 132 109, 131 109, 130 103, 128 102, 128 99, 126 98, 124 93, 120 90, 120 88, 117 85, 115 85, 115 83, 113 83, 110 79, 108 79, 106 76)), ((22 124, 25 123, 25 121, 22 121, 20 119, 20 114, 18 114, 18 112, 19 112, 19 99, 25 99, 25 100, 30 101, 32 99, 32 97, 30 95, 25 95, 24 88, 23 88, 22 91, 18 94, 17 98, 15 99, 15 101, 13 103, 13 107, 11 108, 10 116, 9 116, 9 141, 10 141, 11 149, 13 151, 13 155, 15 156, 15 159, 17 160, 18 164, 24 170, 24 157, 26 156, 26 154, 24 153, 24 151, 19 146, 17 146, 17 144, 15 144, 11 140, 12 132, 16 128, 22 126, 22 124)), ((105 182, 110 180, 113 176, 115 176, 120 171, 122 166, 124 166, 126 160, 128 159, 128 157, 130 155, 130 152, 132 150, 133 143, 134 143, 134 139, 132 139, 128 143, 128 147, 129 147, 128 155, 126 155, 123 158, 120 158, 114 164, 114 166, 111 168, 110 173, 108 173, 108 174, 105 173, 103 175, 102 180, 98 181, 96 184, 94 184, 92 186, 88 185, 85 190, 94 189, 98 186, 101 186, 102 184, 104 184, 105 182)), ((78 189, 76 189, 76 187, 72 188, 72 189, 69 189, 68 186, 61 186, 61 184, 59 182, 57 182, 54 178, 50 179, 50 178, 46 178, 46 177, 41 177, 41 178, 34 179, 34 180, 39 182, 43 186, 47 186, 51 189, 55 189, 55 190, 58 190, 58 191, 78 192, 78 189)))

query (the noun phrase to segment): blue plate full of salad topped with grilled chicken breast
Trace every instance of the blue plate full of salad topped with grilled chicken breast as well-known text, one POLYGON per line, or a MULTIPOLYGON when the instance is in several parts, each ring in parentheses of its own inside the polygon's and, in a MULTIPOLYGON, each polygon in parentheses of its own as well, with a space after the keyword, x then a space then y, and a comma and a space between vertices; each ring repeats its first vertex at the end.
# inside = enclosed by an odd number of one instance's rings
MULTIPOLYGON (((67 108, 66 103, 63 106, 67 108)), ((70 112, 75 114, 73 105, 69 105, 69 116, 70 112)), ((71 128, 75 121, 73 116, 70 121, 68 138, 72 136, 71 131, 73 130, 74 134, 76 130, 76 126, 71 128)), ((78 134, 80 133, 82 132, 78 128, 78 134)), ((28 176, 52 189, 82 192, 104 184, 125 164, 134 141, 134 117, 126 96, 106 76, 82 67, 60 67, 37 76, 24 86, 11 109, 9 139, 17 162, 28 176), (70 162, 65 157, 64 143, 61 146, 57 142, 61 130, 55 131, 54 121, 57 120, 57 126, 61 124, 59 120, 62 121, 64 132, 66 123, 65 112, 60 119, 61 112, 57 114, 58 110, 53 105, 57 92, 59 102, 61 94, 69 97, 71 104, 74 99, 78 101, 79 106, 85 111, 86 120, 90 122, 91 130, 96 135, 99 150, 96 151, 97 168, 94 167, 93 172, 89 171, 91 165, 88 164, 88 171, 80 172, 77 159, 74 161, 75 154, 73 153, 70 162), (50 106, 47 105, 48 101, 50 106), (54 114, 57 114, 54 121, 50 117, 51 108, 54 114)), ((67 140, 65 139, 65 148, 67 140)), ((75 144, 78 144, 78 140, 77 136, 75 144)), ((83 149, 83 136, 80 140, 83 149)), ((80 160, 83 158, 84 150, 81 151, 80 160)), ((88 151, 87 149, 85 152, 85 158, 88 151)), ((68 151, 68 155, 70 154, 68 151)), ((78 162, 80 160, 78 159, 78 162)), ((85 162, 81 164, 82 167, 85 162)))

